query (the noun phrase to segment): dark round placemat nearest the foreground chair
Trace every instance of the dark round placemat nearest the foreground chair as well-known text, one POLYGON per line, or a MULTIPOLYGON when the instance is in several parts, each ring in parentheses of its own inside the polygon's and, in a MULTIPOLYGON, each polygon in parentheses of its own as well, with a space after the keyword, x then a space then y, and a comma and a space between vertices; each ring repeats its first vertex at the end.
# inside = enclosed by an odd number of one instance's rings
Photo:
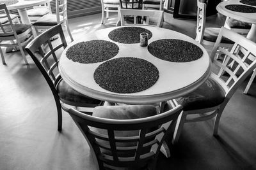
POLYGON ((100 64, 93 77, 103 89, 128 94, 152 87, 159 78, 159 71, 147 60, 122 57, 100 64))

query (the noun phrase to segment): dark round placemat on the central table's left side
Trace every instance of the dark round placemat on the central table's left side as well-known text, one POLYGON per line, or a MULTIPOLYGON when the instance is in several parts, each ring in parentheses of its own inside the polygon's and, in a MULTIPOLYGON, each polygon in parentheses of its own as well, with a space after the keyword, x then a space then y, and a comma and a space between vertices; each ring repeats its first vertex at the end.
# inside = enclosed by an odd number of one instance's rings
POLYGON ((115 57, 119 52, 119 47, 110 41, 91 40, 68 48, 67 58, 84 64, 102 62, 115 57))

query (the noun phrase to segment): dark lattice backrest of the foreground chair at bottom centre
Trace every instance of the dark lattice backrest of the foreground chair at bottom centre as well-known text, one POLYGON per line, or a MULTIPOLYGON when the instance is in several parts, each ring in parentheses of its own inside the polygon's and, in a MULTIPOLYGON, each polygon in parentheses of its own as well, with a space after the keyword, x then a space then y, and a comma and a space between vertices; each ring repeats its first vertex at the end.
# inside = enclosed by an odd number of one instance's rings
POLYGON ((171 134, 181 109, 179 105, 159 115, 129 120, 93 117, 74 109, 68 110, 68 113, 93 148, 100 169, 138 169, 138 166, 145 167, 150 163, 154 167, 166 134, 171 134), (102 130, 107 132, 102 134, 102 130), (131 136, 116 136, 120 131, 138 132, 131 136))

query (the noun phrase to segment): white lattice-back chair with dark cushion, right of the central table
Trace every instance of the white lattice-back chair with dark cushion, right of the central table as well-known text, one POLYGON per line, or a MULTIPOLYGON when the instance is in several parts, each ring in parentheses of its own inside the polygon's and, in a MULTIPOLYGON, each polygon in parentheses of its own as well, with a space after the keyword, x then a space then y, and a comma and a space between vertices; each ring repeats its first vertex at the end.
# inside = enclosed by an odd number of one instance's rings
POLYGON ((205 121, 214 117, 213 134, 214 136, 218 135, 221 114, 237 88, 255 69, 256 60, 250 60, 250 57, 255 56, 256 44, 253 41, 224 27, 221 28, 211 54, 211 76, 191 94, 169 101, 169 103, 183 106, 175 128, 173 143, 178 141, 185 123, 205 121), (231 50, 225 50, 221 46, 220 42, 224 37, 235 42, 231 50), (225 55, 224 62, 216 59, 217 50, 225 55), (232 67, 228 66, 230 62, 233 62, 232 67), (225 74, 223 74, 224 72, 225 74))

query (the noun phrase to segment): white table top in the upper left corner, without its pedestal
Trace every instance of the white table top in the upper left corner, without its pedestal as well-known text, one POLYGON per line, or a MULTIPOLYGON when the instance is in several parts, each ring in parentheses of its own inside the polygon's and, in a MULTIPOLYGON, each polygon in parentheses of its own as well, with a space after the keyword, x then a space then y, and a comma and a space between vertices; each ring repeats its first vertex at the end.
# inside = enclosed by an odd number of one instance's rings
POLYGON ((45 4, 49 3, 52 0, 17 0, 19 1, 18 3, 8 5, 7 9, 8 10, 17 10, 17 9, 22 9, 22 8, 28 8, 30 6, 38 6, 40 4, 45 4))

